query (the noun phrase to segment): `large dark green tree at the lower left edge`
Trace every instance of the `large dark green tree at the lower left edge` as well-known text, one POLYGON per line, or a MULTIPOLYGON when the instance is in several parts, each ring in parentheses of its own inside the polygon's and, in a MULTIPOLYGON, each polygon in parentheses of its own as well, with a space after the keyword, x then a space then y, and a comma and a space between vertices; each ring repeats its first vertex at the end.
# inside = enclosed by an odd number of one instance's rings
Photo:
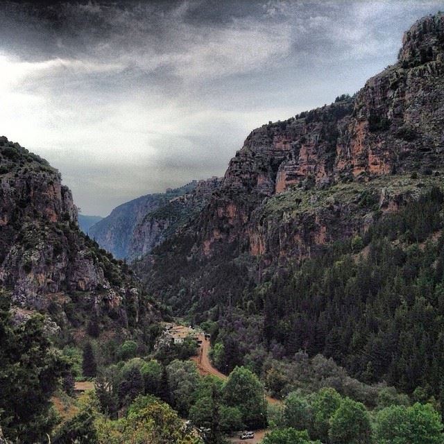
POLYGON ((0 427, 20 443, 41 441, 54 425, 51 395, 69 362, 53 350, 44 318, 15 325, 0 295, 0 427))

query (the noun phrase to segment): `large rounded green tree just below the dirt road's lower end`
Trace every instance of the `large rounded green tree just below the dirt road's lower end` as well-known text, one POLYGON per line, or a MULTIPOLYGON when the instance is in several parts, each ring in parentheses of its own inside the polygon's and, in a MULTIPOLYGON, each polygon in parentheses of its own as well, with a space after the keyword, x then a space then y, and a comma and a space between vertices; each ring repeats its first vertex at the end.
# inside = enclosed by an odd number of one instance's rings
POLYGON ((223 385, 223 400, 237 407, 244 424, 252 429, 266 425, 264 386, 248 368, 236 367, 223 385))

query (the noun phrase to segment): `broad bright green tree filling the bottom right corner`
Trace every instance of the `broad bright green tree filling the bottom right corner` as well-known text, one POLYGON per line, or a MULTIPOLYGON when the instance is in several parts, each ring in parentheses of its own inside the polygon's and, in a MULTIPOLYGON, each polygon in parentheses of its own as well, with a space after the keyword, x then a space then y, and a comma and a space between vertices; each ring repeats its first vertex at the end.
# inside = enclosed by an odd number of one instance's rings
POLYGON ((386 407, 375 418, 377 444, 439 444, 442 431, 439 413, 430 404, 386 407))

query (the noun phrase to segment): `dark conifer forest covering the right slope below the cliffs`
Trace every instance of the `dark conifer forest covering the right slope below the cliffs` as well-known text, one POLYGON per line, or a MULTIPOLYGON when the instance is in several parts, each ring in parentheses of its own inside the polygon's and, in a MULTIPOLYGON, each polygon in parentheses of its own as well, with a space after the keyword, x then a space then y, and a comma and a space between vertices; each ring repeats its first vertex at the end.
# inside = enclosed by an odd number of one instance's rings
POLYGON ((240 289, 230 291, 229 307, 207 310, 216 366, 229 372, 244 364, 264 375, 267 359, 291 361, 303 350, 332 357, 361 381, 385 380, 407 393, 417 389, 423 399, 438 398, 442 225, 443 194, 433 188, 381 216, 361 237, 327 246, 259 286, 251 286, 241 260, 219 267, 218 282, 240 289))

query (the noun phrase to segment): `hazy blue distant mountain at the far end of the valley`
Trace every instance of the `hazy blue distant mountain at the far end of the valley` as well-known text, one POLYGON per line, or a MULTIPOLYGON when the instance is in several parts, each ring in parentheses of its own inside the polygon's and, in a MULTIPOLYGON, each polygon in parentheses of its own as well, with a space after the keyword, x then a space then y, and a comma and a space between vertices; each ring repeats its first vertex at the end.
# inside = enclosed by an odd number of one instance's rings
POLYGON ((114 208, 89 235, 121 259, 137 259, 176 232, 201 210, 219 178, 193 180, 165 193, 147 194, 114 208))

